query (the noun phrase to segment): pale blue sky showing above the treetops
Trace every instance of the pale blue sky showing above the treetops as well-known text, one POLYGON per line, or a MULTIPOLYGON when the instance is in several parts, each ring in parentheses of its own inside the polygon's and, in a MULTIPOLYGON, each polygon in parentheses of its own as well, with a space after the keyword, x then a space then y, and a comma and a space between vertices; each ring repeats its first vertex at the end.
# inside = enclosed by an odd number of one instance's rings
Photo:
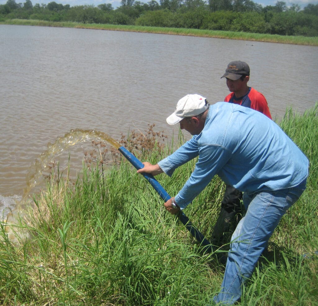
MULTIPOLYGON (((94 5, 97 6, 99 4, 103 3, 111 3, 113 8, 116 9, 117 7, 121 6, 121 1, 120 0, 31 0, 32 4, 47 4, 50 2, 56 2, 56 3, 61 3, 63 5, 69 4, 70 6, 75 6, 75 5, 94 5)), ((143 3, 148 3, 150 0, 135 0, 135 1, 140 1, 143 3)), ((160 3, 160 0, 156 0, 158 3, 160 3)), ((318 0, 253 0, 255 3, 261 4, 263 7, 266 5, 275 5, 277 1, 283 1, 286 3, 287 6, 290 6, 291 3, 299 4, 301 8, 304 8, 308 3, 311 4, 318 4, 318 0)), ((25 0, 16 0, 16 3, 24 3, 25 0)), ((7 3, 7 0, 0 0, 0 4, 5 4, 7 3)))

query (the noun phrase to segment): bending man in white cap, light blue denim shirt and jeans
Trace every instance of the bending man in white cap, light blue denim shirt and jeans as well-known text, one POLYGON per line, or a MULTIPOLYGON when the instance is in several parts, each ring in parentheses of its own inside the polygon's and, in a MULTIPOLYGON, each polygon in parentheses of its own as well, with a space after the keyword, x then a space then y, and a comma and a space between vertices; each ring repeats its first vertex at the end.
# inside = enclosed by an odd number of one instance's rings
POLYGON ((164 203, 176 214, 218 175, 244 192, 245 216, 232 238, 225 275, 215 302, 232 304, 252 275, 274 229, 306 188, 308 159, 271 119, 256 110, 218 102, 209 105, 197 94, 179 100, 167 118, 193 137, 156 165, 144 163, 138 173, 171 176, 198 156, 195 169, 179 193, 164 203))

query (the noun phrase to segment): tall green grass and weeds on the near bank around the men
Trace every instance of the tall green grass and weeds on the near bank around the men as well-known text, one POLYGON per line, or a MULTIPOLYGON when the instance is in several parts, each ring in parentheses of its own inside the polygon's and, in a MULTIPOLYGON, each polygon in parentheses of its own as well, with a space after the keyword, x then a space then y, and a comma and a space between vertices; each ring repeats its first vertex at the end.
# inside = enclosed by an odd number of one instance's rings
MULTIPOLYGON (((275 230, 240 305, 317 305, 318 102, 303 115, 287 110, 280 125, 310 159, 308 187, 275 230)), ((165 137, 153 127, 120 142, 152 163, 183 143, 180 133, 178 143, 162 145, 165 137)), ((224 273, 216 253, 201 254, 146 180, 110 151, 109 168, 107 147, 94 142, 76 181, 52 172, 16 228, 29 239, 15 245, 1 225, 1 304, 209 304, 224 273)), ((194 163, 156 178, 175 195, 194 163)), ((208 239, 223 189, 215 177, 185 211, 208 239)))

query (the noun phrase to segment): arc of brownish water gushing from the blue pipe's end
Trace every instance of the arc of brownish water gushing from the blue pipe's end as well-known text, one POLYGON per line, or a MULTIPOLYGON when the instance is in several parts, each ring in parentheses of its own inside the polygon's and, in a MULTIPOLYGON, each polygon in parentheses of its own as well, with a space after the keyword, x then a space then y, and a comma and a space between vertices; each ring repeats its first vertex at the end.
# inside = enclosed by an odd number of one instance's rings
MULTIPOLYGON (((28 202, 27 198, 32 188, 38 185, 41 177, 43 176, 43 172, 48 170, 48 164, 52 162, 54 158, 60 156, 63 152, 70 147, 73 147, 75 144, 92 140, 106 142, 115 149, 119 149, 121 147, 120 143, 103 132, 81 129, 71 130, 69 133, 66 133, 64 137, 58 137, 53 144, 48 143, 48 149, 38 156, 27 175, 27 186, 24 189, 22 199, 16 204, 15 210, 12 210, 8 214, 7 219, 3 221, 9 240, 17 242, 15 233, 18 232, 19 229, 15 226, 15 224, 21 218, 21 215, 23 215, 23 207, 28 202)), ((19 235, 21 236, 21 232, 19 235)), ((24 239, 27 236, 26 233, 22 233, 22 235, 24 235, 24 239)))

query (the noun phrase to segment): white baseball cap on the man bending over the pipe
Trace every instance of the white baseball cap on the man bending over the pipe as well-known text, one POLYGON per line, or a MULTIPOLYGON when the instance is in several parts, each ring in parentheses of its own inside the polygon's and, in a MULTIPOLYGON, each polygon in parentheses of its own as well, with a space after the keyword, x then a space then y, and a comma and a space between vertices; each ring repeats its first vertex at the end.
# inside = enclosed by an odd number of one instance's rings
POLYGON ((208 101, 203 96, 186 95, 178 101, 176 110, 167 118, 167 123, 174 125, 185 117, 193 117, 203 113, 208 107, 208 101))

